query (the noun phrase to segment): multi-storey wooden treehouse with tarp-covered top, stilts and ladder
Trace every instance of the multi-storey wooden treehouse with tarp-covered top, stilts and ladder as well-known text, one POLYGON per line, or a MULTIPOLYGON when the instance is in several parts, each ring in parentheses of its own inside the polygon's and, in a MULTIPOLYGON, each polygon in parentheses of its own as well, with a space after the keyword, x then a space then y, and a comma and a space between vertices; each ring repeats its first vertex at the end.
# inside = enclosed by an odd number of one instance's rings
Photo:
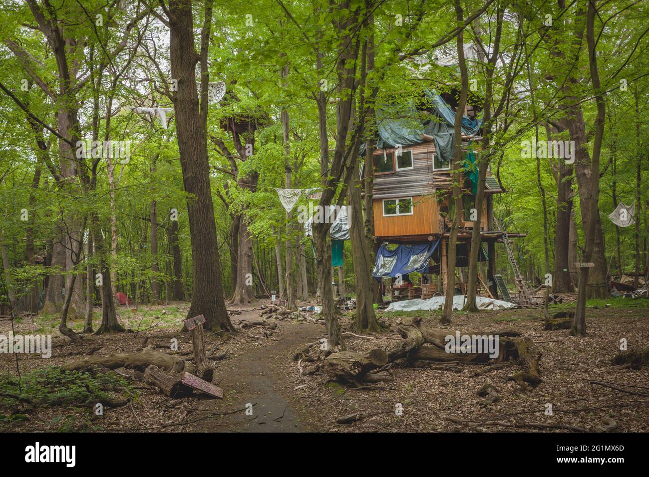
MULTIPOLYGON (((478 186, 476 158, 480 156, 482 118, 478 108, 467 105, 462 118, 462 210, 454 210, 452 159, 454 156, 456 105, 452 93, 426 91, 418 107, 410 104, 377 113, 376 149, 373 156, 372 200, 376 263, 373 276, 380 284, 375 300, 382 301, 382 278, 391 277, 393 300, 442 296, 447 282, 447 252, 454 214, 461 214, 456 244, 459 294, 467 292, 471 234, 480 227, 480 262, 487 262, 486 280, 478 267, 478 295, 519 304, 530 302, 511 251, 511 238, 500 228, 493 213, 493 194, 502 188, 487 170, 485 199, 480 224, 471 220, 478 186), (397 118, 397 119, 393 119, 397 118), (495 243, 504 243, 513 268, 517 296, 511 297, 501 275, 495 273, 495 243), (485 251, 482 244, 487 245, 485 251), (468 268, 467 268, 468 271, 468 268), (421 286, 413 286, 410 273, 422 274, 421 286)), ((387 290, 386 290, 387 291, 387 290)), ((458 294, 458 290, 456 290, 458 294)))

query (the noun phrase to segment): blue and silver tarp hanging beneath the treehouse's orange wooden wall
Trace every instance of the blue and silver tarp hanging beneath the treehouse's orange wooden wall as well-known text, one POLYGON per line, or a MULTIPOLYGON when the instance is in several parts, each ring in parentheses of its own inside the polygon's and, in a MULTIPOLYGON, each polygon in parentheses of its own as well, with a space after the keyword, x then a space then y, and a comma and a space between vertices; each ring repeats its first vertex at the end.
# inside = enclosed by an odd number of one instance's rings
POLYGON ((408 275, 421 271, 428 266, 428 259, 433 254, 440 239, 435 242, 418 243, 416 245, 398 245, 396 249, 390 250, 386 245, 381 245, 376 253, 376 262, 372 276, 395 277, 397 275, 408 275))

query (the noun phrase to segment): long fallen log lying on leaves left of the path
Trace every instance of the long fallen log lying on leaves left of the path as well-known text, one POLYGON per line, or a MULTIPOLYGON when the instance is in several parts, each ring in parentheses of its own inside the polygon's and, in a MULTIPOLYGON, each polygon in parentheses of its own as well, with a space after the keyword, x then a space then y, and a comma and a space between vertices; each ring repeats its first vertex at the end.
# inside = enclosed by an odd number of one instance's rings
POLYGON ((84 358, 83 360, 73 361, 64 366, 64 369, 70 371, 82 371, 92 369, 95 365, 105 366, 108 369, 127 367, 138 369, 140 371, 153 365, 163 369, 164 371, 168 371, 171 374, 180 373, 181 371, 186 371, 187 373, 192 374, 194 373, 194 367, 190 363, 186 363, 180 358, 171 356, 171 354, 150 349, 145 349, 139 353, 116 353, 109 354, 108 356, 91 356, 90 358, 84 358))

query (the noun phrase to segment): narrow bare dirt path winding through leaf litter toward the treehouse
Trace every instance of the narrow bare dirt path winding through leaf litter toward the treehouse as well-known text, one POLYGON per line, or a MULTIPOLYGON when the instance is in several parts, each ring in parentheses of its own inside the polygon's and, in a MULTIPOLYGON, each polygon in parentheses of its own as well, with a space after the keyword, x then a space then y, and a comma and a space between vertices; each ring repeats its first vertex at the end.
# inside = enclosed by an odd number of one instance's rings
MULTIPOLYGON (((245 318, 238 315, 237 318, 245 318)), ((300 345, 316 341, 324 328, 318 324, 278 322, 278 341, 264 340, 263 347, 247 349, 238 356, 219 361, 214 383, 224 390, 218 403, 206 400, 201 413, 238 410, 253 404, 252 415, 237 412, 198 423, 199 432, 307 432, 299 413, 284 396, 293 393, 294 384, 282 365, 300 345), (220 381, 219 381, 220 380, 220 381)))

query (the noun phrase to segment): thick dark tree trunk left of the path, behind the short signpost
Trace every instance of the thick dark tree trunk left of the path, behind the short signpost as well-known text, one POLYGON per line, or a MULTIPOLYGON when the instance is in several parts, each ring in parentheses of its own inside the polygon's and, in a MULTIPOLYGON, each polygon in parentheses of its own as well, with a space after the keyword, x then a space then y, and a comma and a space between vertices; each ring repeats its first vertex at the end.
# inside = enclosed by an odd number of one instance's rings
POLYGON ((191 2, 171 0, 169 13, 171 76, 178 80, 178 90, 173 98, 178 151, 184 188, 190 194, 187 210, 194 271, 188 316, 204 315, 207 329, 234 331, 221 287, 206 131, 201 121, 195 83, 199 57, 194 48, 191 2))

